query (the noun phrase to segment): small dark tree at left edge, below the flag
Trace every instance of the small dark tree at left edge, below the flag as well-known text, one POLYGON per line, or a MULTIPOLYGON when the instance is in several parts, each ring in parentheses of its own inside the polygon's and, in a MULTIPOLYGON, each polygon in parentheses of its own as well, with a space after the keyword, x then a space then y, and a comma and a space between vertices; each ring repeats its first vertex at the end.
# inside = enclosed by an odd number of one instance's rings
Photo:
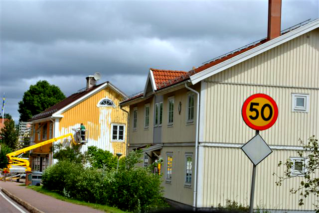
POLYGON ((4 121, 4 127, 1 129, 0 133, 2 143, 12 150, 16 150, 19 146, 18 134, 18 129, 15 127, 14 120, 4 121))

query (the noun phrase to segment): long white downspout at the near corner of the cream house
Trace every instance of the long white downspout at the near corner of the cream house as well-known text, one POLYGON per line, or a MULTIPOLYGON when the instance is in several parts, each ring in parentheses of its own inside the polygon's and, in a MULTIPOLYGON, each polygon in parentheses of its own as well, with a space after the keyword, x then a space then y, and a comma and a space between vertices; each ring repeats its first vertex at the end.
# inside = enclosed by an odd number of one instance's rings
MULTIPOLYGON (((190 81, 188 81, 190 82, 190 81)), ((195 163, 194 163, 194 191, 193 191, 193 208, 196 211, 197 208, 197 154, 198 154, 198 120, 199 120, 199 93, 196 90, 193 90, 187 86, 185 87, 191 92, 197 95, 197 107, 196 107, 196 133, 195 133, 195 163)))

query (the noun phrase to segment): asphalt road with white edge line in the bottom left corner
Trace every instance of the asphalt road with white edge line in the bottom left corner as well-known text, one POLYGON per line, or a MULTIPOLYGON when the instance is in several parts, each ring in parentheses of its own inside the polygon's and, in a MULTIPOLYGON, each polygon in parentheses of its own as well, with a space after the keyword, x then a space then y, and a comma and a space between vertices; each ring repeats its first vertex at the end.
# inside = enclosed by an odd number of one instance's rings
POLYGON ((0 213, 29 213, 0 191, 0 213))

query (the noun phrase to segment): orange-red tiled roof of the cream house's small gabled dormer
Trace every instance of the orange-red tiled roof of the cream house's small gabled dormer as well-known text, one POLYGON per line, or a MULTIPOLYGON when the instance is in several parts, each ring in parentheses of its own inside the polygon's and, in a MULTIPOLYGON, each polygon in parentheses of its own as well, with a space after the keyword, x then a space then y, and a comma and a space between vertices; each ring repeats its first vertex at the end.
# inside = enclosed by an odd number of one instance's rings
POLYGON ((173 80, 181 75, 186 74, 185 71, 177 70, 158 70, 150 68, 153 71, 153 76, 156 84, 156 88, 159 89, 158 85, 167 82, 168 80, 173 80))

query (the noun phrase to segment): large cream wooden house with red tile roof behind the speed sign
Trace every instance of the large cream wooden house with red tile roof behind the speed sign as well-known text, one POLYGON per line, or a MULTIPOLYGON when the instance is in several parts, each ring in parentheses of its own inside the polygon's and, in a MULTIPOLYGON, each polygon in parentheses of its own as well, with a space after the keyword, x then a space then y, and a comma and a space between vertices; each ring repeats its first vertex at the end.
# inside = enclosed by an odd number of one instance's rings
POLYGON ((252 164, 240 148, 255 131, 244 123, 241 106, 255 93, 271 96, 279 115, 260 132, 273 153, 257 166, 254 208, 313 210, 314 197, 299 206, 289 192, 303 177, 278 187, 273 173, 284 174, 279 161, 302 160, 299 138, 319 135, 319 19, 189 72, 150 69, 144 92, 120 103, 130 107, 129 150, 144 150, 144 166, 163 159, 164 197, 172 202, 249 205, 252 164))

